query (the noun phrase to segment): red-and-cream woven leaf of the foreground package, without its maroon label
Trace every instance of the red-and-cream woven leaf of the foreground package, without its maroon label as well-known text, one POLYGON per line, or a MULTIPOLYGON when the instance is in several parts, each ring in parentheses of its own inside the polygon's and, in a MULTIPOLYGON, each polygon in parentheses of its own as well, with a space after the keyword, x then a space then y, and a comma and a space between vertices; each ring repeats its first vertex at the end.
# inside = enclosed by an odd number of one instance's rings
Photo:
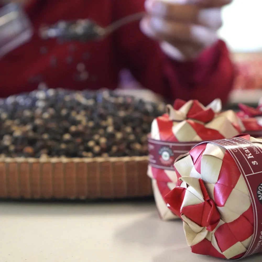
MULTIPOLYGON (((262 148, 262 139, 243 138, 262 148)), ((254 214, 247 185, 233 157, 217 144, 199 144, 174 167, 179 187, 165 200, 182 218, 192 252, 241 258, 253 238, 254 214)))

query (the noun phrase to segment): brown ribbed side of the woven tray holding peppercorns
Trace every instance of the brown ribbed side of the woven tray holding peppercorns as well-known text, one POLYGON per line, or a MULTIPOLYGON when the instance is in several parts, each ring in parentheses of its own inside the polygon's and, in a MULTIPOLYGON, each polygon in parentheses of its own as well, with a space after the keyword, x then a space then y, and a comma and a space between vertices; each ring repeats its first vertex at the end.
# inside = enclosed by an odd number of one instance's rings
POLYGON ((152 195, 148 157, 3 158, 0 198, 114 199, 152 195))

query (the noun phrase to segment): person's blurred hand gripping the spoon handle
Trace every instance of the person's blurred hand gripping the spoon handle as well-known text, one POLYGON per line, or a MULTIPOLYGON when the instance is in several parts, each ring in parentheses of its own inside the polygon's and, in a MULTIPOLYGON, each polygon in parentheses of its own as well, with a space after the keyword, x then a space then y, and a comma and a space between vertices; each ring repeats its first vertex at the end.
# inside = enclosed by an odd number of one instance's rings
POLYGON ((221 7, 232 0, 146 0, 140 28, 177 60, 197 58, 217 41, 221 7))

